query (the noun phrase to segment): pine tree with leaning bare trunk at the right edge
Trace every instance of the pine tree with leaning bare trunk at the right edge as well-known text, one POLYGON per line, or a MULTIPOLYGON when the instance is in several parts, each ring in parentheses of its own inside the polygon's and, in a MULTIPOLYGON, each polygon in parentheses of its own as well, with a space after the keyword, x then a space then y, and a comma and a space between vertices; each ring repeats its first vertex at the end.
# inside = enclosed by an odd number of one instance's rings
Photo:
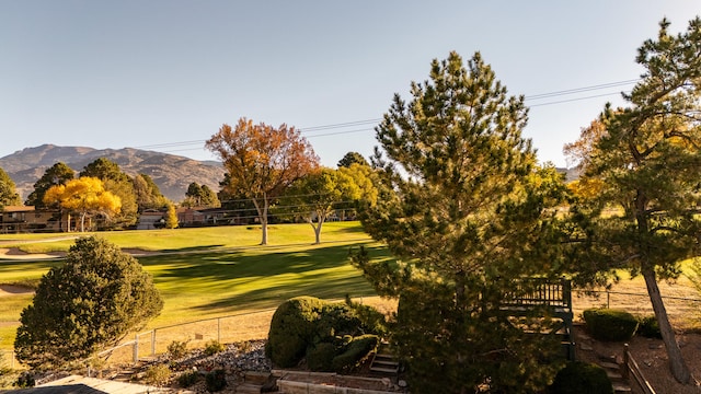
POLYGON ((645 279, 655 316, 680 382, 691 376, 657 281, 679 275, 698 255, 701 223, 701 20, 673 35, 663 20, 636 61, 645 72, 627 106, 609 105, 567 152, 583 171, 575 218, 582 225, 582 266, 612 276, 628 269, 645 279), (596 193, 583 193, 596 188, 596 193), (618 215, 602 215, 618 209, 618 215))

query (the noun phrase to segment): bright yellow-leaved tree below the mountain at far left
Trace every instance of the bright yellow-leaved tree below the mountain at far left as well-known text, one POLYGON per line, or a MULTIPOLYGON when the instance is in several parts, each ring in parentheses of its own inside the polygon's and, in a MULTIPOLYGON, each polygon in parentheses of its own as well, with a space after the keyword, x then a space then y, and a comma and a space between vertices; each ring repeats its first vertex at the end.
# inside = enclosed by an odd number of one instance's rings
MULTIPOLYGON (((58 202, 62 208, 80 216, 80 231, 85 231, 85 217, 102 213, 106 217, 119 213, 122 200, 96 177, 81 176, 65 185, 51 186, 44 195, 45 204, 58 202)), ((69 218, 70 222, 70 218, 69 218)))

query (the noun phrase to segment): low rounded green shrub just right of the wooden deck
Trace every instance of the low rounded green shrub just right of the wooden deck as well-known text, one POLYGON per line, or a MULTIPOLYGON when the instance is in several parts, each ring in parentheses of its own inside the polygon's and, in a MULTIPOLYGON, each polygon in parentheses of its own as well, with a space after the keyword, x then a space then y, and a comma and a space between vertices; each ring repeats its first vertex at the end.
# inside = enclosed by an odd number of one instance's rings
POLYGON ((597 340, 629 340, 637 329, 637 320, 632 314, 607 308, 584 311, 587 332, 597 340))

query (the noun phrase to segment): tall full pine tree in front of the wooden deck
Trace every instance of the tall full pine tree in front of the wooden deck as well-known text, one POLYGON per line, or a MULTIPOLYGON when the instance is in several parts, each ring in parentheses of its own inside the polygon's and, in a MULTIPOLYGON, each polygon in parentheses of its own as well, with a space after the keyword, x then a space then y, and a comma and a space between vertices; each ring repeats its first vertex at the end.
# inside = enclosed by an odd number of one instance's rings
POLYGON ((411 95, 397 94, 376 128, 379 196, 359 211, 399 260, 360 251, 354 262, 400 300, 392 341, 417 392, 537 392, 559 368, 541 361, 560 345, 499 318, 498 305, 519 279, 561 275, 562 177, 536 166, 524 97, 479 53, 467 65, 456 53, 434 60, 411 95))

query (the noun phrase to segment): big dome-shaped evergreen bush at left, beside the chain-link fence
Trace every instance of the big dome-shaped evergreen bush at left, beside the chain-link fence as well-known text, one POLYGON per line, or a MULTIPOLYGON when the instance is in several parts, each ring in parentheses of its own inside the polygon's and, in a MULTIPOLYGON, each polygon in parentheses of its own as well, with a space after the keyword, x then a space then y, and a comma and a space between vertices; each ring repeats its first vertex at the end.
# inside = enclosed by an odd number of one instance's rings
POLYGON ((162 308, 136 258, 103 239, 78 239, 22 311, 16 357, 35 369, 87 358, 141 328, 162 308))

